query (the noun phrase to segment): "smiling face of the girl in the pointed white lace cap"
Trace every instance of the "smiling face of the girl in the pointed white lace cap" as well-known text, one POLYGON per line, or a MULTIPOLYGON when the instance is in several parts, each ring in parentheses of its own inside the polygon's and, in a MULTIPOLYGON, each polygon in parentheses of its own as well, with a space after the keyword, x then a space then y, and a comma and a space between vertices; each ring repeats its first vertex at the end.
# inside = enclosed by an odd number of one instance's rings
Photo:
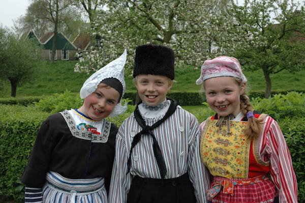
POLYGON ((110 86, 98 87, 84 99, 78 110, 92 120, 100 121, 112 112, 118 99, 119 93, 115 89, 110 86))

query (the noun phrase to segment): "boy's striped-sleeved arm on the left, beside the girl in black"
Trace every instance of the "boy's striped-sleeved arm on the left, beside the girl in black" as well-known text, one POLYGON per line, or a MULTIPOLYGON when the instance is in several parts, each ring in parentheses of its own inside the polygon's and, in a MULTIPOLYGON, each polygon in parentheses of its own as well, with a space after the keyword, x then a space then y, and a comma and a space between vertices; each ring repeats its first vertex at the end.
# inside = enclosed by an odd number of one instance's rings
POLYGON ((115 141, 115 157, 109 191, 109 203, 125 203, 132 176, 127 173, 128 153, 124 142, 124 123, 120 126, 115 141))

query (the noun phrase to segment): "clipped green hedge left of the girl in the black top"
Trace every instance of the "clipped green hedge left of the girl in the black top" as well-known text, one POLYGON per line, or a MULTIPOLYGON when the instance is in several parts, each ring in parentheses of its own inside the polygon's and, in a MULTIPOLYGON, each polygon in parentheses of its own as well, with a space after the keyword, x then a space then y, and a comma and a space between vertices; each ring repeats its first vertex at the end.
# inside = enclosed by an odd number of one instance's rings
POLYGON ((19 105, 0 105, 0 111, 0 202, 9 197, 21 201, 23 185, 18 180, 49 113, 19 105))

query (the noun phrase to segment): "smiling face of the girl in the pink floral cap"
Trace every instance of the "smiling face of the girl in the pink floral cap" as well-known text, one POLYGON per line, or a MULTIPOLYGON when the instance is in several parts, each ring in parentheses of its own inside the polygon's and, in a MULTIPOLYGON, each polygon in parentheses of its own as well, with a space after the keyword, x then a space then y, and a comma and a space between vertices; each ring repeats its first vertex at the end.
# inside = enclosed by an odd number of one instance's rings
POLYGON ((246 83, 240 86, 233 77, 215 77, 204 81, 206 101, 218 115, 225 117, 240 112, 240 95, 246 83))

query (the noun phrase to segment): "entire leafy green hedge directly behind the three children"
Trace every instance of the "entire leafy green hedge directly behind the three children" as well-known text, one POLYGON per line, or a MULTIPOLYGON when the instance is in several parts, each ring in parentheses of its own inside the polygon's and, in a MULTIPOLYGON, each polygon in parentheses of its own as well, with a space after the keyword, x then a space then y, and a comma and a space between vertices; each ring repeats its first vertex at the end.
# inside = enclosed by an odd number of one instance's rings
MULTIPOLYGON (((66 92, 65 96, 46 97, 35 105, 27 107, 0 105, 0 112, 2 112, 0 114, 0 202, 5 202, 7 199, 13 202, 23 201, 23 185, 18 180, 31 153, 38 129, 52 113, 51 111, 76 107, 75 104, 79 101, 74 100, 74 97, 77 98, 77 96, 66 92), (61 98, 60 102, 56 100, 58 97, 61 98), (53 101, 53 104, 50 101, 53 101), (46 108, 47 106, 52 108, 46 108)), ((299 202, 305 202, 304 99, 305 94, 291 92, 287 95, 275 95, 269 99, 254 99, 253 102, 255 109, 279 118, 297 176, 299 202)), ((199 121, 203 121, 207 114, 212 113, 205 105, 201 106, 199 110, 195 109, 193 112, 199 121)), ((129 105, 126 113, 109 120, 119 126, 134 107, 129 105)))

